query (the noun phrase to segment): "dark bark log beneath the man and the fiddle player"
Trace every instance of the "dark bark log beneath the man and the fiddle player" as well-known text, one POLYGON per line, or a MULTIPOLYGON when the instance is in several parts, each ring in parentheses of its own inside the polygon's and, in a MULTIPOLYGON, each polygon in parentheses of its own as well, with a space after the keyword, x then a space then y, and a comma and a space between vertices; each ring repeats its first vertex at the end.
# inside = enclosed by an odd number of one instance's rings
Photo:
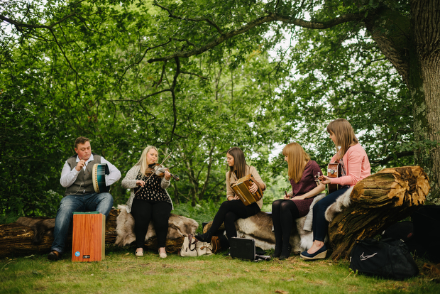
MULTIPOLYGON (((119 209, 111 209, 109 217, 106 219, 105 243, 114 244, 116 240, 116 217, 119 209)), ((31 254, 45 254, 50 251, 53 242, 53 229, 43 236, 38 245, 34 245, 33 228, 13 222, 11 224, 0 225, 0 258, 6 256, 30 256, 31 254)), ((169 253, 176 253, 182 247, 184 238, 167 239, 166 250, 169 253)), ((153 236, 145 243, 146 249, 157 251, 158 241, 153 236)), ((67 235, 66 251, 72 249, 72 229, 67 235)))

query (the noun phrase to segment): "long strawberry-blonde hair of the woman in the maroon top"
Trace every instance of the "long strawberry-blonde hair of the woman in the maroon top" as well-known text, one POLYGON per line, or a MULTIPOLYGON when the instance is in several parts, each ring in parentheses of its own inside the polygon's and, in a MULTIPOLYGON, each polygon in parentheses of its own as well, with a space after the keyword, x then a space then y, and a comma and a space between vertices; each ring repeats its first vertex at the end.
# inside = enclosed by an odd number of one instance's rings
POLYGON ((304 168, 309 163, 309 154, 297 142, 292 142, 282 149, 282 155, 287 156, 289 180, 294 180, 295 183, 298 183, 302 178, 304 168))

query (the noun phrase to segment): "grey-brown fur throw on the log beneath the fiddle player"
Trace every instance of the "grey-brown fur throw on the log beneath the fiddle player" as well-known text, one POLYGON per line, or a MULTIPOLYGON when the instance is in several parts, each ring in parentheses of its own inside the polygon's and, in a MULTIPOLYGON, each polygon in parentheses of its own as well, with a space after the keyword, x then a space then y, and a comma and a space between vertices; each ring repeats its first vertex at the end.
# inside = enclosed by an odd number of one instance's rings
MULTIPOLYGON (((126 246, 136 241, 134 234, 134 219, 130 213, 127 213, 125 205, 118 205, 120 209, 119 216, 116 218, 116 241, 115 245, 126 246)), ((177 239, 189 234, 195 234, 199 224, 194 219, 182 217, 177 214, 170 214, 168 219, 168 234, 167 239, 177 239)), ((145 236, 145 241, 155 236, 153 222, 148 225, 148 232, 145 236)))

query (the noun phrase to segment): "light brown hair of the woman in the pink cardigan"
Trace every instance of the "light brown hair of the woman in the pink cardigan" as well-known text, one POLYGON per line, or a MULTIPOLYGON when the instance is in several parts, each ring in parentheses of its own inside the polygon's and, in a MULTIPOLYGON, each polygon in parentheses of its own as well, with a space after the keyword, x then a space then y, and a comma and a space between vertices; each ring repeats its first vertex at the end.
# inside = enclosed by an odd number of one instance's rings
POLYGON ((348 147, 358 143, 353 127, 346 119, 335 119, 327 126, 327 133, 333 133, 336 141, 336 160, 343 158, 348 147))

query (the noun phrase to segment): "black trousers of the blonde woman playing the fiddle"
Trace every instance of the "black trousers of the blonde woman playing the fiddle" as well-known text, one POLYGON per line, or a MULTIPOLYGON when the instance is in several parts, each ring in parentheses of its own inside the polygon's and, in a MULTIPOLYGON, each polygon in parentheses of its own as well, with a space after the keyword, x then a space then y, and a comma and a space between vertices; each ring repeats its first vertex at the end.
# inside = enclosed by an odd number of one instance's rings
POLYGON ((168 202, 148 202, 134 199, 131 205, 131 215, 134 218, 134 234, 136 235, 136 248, 143 248, 148 224, 153 219, 158 248, 165 247, 168 234, 168 219, 170 218, 171 205, 168 202))

